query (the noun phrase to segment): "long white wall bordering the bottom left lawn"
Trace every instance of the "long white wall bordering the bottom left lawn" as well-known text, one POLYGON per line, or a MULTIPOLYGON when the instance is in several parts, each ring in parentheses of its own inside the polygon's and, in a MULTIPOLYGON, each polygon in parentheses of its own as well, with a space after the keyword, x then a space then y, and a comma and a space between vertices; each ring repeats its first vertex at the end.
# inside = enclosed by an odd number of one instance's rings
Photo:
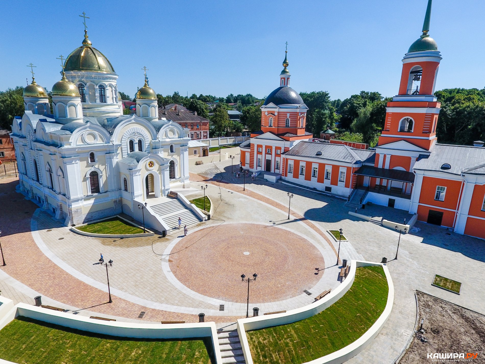
MULTIPOLYGON (((72 329, 120 337, 149 339, 210 337, 216 363, 222 364, 217 330, 215 322, 213 321, 189 324, 138 324, 121 321, 103 321, 85 316, 77 316, 67 314, 65 312, 53 311, 42 307, 31 306, 25 303, 18 303, 17 305, 13 306, 13 301, 7 298, 0 297, 0 302, 2 302, 0 305, 0 330, 10 323, 14 318, 16 318, 16 316, 20 315, 72 329), (9 305, 9 307, 11 307, 9 310, 2 308, 2 306, 8 305, 9 303, 11 303, 11 305, 9 305)), ((2 363, 1 360, 0 363, 2 363)))

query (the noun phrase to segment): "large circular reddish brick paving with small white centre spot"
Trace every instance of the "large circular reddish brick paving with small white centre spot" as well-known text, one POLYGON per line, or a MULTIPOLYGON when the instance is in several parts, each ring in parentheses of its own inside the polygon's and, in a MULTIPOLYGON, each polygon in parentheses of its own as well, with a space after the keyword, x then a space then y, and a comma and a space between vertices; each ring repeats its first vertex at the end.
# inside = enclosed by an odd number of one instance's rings
POLYGON ((263 303, 301 295, 322 278, 314 268, 324 268, 322 254, 307 239, 259 224, 204 228, 182 238, 171 252, 169 265, 178 281, 201 295, 231 302, 246 302, 243 273, 258 274, 250 283, 249 301, 263 303))

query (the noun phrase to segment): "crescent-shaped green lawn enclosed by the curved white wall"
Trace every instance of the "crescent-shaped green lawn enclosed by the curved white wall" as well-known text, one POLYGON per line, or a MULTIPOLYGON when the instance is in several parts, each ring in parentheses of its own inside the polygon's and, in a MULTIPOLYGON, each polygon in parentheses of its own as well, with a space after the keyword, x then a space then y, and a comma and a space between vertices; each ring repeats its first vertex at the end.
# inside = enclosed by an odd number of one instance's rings
POLYGON ((388 282, 381 266, 360 267, 352 287, 320 314, 247 332, 255 364, 306 363, 356 341, 382 314, 388 282))

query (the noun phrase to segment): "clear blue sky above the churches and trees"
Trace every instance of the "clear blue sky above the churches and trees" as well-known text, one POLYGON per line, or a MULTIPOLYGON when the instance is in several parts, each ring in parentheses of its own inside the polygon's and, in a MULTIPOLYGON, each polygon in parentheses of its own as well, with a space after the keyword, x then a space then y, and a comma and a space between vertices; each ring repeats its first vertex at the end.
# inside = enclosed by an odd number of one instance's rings
MULTIPOLYGON (((291 87, 344 99, 361 90, 397 93, 401 59, 421 34, 426 0, 8 1, 2 3, 0 90, 60 79, 60 54, 93 47, 133 97, 143 85, 166 95, 251 93, 278 86, 285 42, 291 87), (69 4, 69 5, 66 5, 69 4), (7 16, 6 16, 7 15, 7 16)), ((436 89, 485 86, 483 0, 435 0, 430 35, 443 60, 436 89)))

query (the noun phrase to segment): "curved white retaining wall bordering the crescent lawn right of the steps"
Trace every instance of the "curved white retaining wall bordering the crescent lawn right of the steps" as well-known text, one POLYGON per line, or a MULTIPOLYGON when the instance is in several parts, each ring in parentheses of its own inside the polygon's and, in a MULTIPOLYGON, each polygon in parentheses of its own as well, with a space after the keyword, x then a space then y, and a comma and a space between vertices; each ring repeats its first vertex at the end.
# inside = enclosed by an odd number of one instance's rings
MULTIPOLYGON (((352 260, 350 265, 350 271, 343 283, 339 285, 335 290, 332 291, 320 299, 319 301, 313 302, 305 307, 301 307, 295 310, 287 311, 282 314, 271 314, 266 316, 242 318, 237 322, 237 329, 239 338, 241 341, 242 352, 246 360, 246 364, 254 364, 253 358, 251 356, 251 351, 249 349, 249 343, 246 337, 246 331, 257 330, 262 328, 267 328, 271 326, 286 325, 292 322, 300 321, 305 318, 311 317, 318 314, 331 306, 333 303, 337 302, 352 286, 356 277, 356 268, 369 265, 382 265, 379 263, 364 262, 352 260)), ((382 265, 386 278, 388 280, 388 301, 383 313, 374 322, 371 328, 366 331, 361 337, 359 337, 352 344, 342 347, 341 349, 325 355, 321 358, 312 360, 305 364, 341 364, 349 360, 358 354, 364 347, 366 347, 373 339, 377 336, 379 331, 386 324, 392 310, 392 305, 394 303, 394 285, 392 284, 392 279, 386 265, 382 265)), ((294 363, 299 364, 299 363, 294 363)))

